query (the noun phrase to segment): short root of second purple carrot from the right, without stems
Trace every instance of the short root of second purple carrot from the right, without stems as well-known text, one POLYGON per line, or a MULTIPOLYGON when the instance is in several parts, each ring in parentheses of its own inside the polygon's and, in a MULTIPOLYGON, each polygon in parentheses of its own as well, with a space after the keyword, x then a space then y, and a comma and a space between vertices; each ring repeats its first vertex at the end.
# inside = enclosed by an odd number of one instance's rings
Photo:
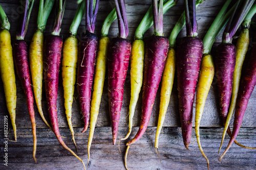
POLYGON ((225 126, 236 65, 236 46, 231 43, 220 44, 216 50, 215 67, 218 86, 219 105, 222 123, 225 126))

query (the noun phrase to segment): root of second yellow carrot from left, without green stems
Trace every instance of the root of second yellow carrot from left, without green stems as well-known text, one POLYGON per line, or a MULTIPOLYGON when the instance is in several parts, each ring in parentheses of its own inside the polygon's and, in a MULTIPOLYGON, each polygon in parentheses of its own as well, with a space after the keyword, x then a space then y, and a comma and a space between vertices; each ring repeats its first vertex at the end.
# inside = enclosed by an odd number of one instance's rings
POLYGON ((42 77, 43 77, 43 57, 44 49, 44 34, 37 30, 31 40, 29 47, 29 61, 30 61, 30 71, 31 78, 33 83, 33 91, 35 95, 35 102, 38 109, 38 112, 44 120, 45 124, 52 130, 52 127, 48 124, 44 113, 42 112, 42 77))

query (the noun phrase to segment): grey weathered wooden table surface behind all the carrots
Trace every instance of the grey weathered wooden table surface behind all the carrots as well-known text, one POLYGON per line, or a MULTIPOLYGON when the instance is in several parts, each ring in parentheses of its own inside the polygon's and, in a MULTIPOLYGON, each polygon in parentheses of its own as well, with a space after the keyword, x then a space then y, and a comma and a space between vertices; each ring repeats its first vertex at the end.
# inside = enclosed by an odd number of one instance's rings
MULTIPOLYGON (((11 37, 15 38, 15 32, 17 29, 17 23, 19 21, 18 15, 20 13, 19 2, 17 0, 0 1, 3 9, 6 11, 9 21, 11 23, 11 37)), ((32 35, 36 28, 37 11, 38 11, 39 1, 36 1, 34 8, 32 10, 31 19, 29 23, 28 33, 25 40, 29 43, 32 35)), ((198 33, 199 38, 203 38, 206 34, 215 16, 218 14, 220 8, 224 4, 221 0, 207 0, 205 3, 197 8, 197 21, 198 21, 198 33)), ((129 21, 129 36, 128 38, 133 41, 133 36, 135 30, 147 11, 148 7, 151 5, 150 0, 143 1, 126 1, 126 11, 127 18, 129 21)), ((179 1, 176 6, 172 7, 164 15, 164 34, 169 36, 170 31, 174 27, 176 21, 178 20, 180 14, 183 11, 183 1, 179 1)), ((63 22, 61 26, 61 35, 63 39, 68 36, 68 30, 72 22, 73 16, 75 14, 77 4, 75 1, 68 1, 65 14, 63 17, 63 22)), ((104 18, 114 7, 114 1, 103 0, 99 4, 99 12, 97 16, 97 23, 95 33, 100 35, 101 26, 104 18)), ((255 19, 254 19, 255 20, 255 19)), ((53 22, 53 14, 50 15, 48 20, 48 25, 45 35, 50 34, 51 26, 53 22)), ((82 33, 85 30, 84 18, 78 29, 78 33, 82 33)), ((253 33, 253 30, 250 30, 253 33)), ((115 21, 110 29, 109 37, 113 38, 117 35, 117 21, 115 21)), ((152 35, 153 29, 151 28, 145 33, 145 37, 152 35)), ((178 36, 178 40, 185 36, 185 29, 178 36)), ((234 40, 235 42, 236 40, 234 40)), ((221 34, 218 36, 216 46, 221 42, 221 34)), ((250 43, 250 47, 251 47, 250 43)), ((250 47, 249 51, 250 52, 250 47)), ((212 53, 214 53, 215 48, 213 48, 212 53)), ((130 71, 129 71, 130 72, 130 71)), ((201 155, 197 141, 194 144, 189 145, 189 150, 184 148, 181 128, 179 122, 178 113, 178 97, 177 97, 177 82, 175 78, 175 83, 172 91, 172 96, 170 99, 169 107, 166 113, 166 118, 164 122, 164 127, 160 134, 159 141, 159 156, 161 160, 157 157, 154 149, 155 133, 158 120, 159 112, 159 101, 160 94, 158 91, 156 96, 155 105, 153 108, 152 116, 148 128, 145 134, 141 137, 139 141, 131 145, 129 150, 129 155, 127 158, 127 164, 130 169, 206 169, 206 161, 201 155)), ((91 147, 91 159, 88 164, 87 169, 125 169, 124 168, 124 153, 125 153, 125 142, 121 142, 120 150, 118 150, 118 145, 112 145, 112 133, 110 127, 110 118, 108 112, 108 94, 107 94, 107 81, 105 81, 105 86, 103 89, 102 99, 100 103, 100 112, 97 121, 97 127, 95 129, 94 139, 91 147)), ((0 169, 83 169, 82 164, 78 161, 71 153, 63 149, 59 142, 57 141, 55 135, 46 127, 42 122, 36 106, 35 108, 35 118, 36 118, 36 133, 37 133, 37 152, 36 158, 37 163, 34 163, 32 158, 32 131, 30 119, 26 107, 25 94, 20 85, 20 81, 16 77, 17 85, 17 107, 16 107, 16 125, 17 125, 17 142, 8 141, 8 166, 4 166, 4 162, 1 162, 0 169)), ((5 154, 4 148, 4 116, 8 115, 6 108, 6 101, 3 89, 3 83, 0 82, 0 115, 1 121, 1 158, 5 154)), ((124 137, 128 131, 128 117, 127 113, 129 111, 129 101, 130 101, 130 74, 127 75, 125 86, 124 86, 124 99, 121 111, 121 119, 119 123, 118 137, 124 137)), ((217 99, 217 88, 216 88, 216 78, 212 82, 212 88, 209 91, 206 105, 204 109, 204 115, 201 120, 201 142, 205 154, 208 156, 210 161, 211 169, 256 169, 256 151, 247 150, 238 147, 233 144, 229 152, 225 155, 222 162, 218 161, 217 153, 219 145, 221 142, 223 127, 221 125, 221 120, 219 116, 219 107, 217 99)), ((256 103, 256 90, 254 89, 251 99, 249 101, 246 114, 244 116, 242 128, 239 132, 237 140, 242 144, 248 145, 250 147, 256 147, 256 125, 255 125, 255 103, 256 103)), ((49 117, 46 107, 46 96, 43 93, 42 105, 44 109, 45 116, 49 122, 49 117)), ((195 109, 195 108, 194 108, 195 109)), ((135 136, 141 114, 141 95, 136 107, 135 117, 134 117, 134 128, 131 134, 132 137, 135 136)), ((73 103, 73 115, 72 123, 75 130, 75 139, 78 148, 78 156, 82 158, 84 162, 87 162, 87 141, 89 130, 81 134, 83 127, 80 109, 77 100, 77 91, 74 94, 73 103)), ((63 140, 66 142, 68 147, 73 151, 75 146, 71 140, 71 133, 68 128, 65 109, 63 106, 63 87, 60 79, 59 89, 58 89, 58 120, 60 133, 63 140)), ((11 129, 8 137, 13 139, 13 130, 9 121, 9 128, 11 129)), ((224 148, 226 147, 229 139, 226 137, 224 141, 224 148)), ((196 140, 195 132, 192 134, 192 141, 196 140)), ((223 150, 222 150, 223 151, 223 150)))

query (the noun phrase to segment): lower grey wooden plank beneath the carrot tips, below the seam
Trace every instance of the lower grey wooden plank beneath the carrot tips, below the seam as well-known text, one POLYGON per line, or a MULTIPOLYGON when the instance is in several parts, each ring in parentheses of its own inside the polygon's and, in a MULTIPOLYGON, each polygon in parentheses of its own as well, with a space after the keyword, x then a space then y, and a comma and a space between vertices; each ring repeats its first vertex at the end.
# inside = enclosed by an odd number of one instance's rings
MULTIPOLYGON (((87 162, 87 140, 89 131, 79 133, 82 128, 75 128, 78 156, 87 162)), ((133 137, 138 128, 133 128, 133 137)), ((201 128, 201 143, 205 154, 210 161, 210 169, 255 169, 256 152, 238 147, 236 144, 225 155, 222 162, 218 161, 217 154, 221 141, 223 128, 201 128)), ((60 133, 68 147, 75 150, 71 140, 69 129, 61 128, 60 133)), ((122 127, 118 132, 119 136, 125 136, 127 128, 122 127)), ((159 156, 154 149, 156 128, 148 128, 145 134, 136 143, 132 144, 127 157, 129 169, 206 169, 207 164, 201 155, 197 141, 189 145, 189 150, 184 148, 181 128, 165 127, 162 129, 159 141, 159 156)), ((10 133, 9 136, 13 134, 10 133)), ((130 139, 131 139, 130 137, 130 139)), ((256 146, 256 128, 241 128, 237 140, 249 146, 256 146)), ((8 167, 5 169, 83 169, 82 164, 67 150, 58 143, 55 135, 49 130, 37 129, 37 163, 32 158, 32 132, 30 129, 18 129, 17 142, 8 141, 8 167)), ((192 140, 196 140, 193 129, 192 140)), ((225 148, 228 138, 224 140, 225 148)), ((3 136, 1 133, 1 143, 3 136)), ((222 152, 224 151, 222 149, 222 152)), ((88 164, 90 169, 112 169, 121 170, 124 168, 124 154, 126 146, 124 142, 112 145, 111 128, 98 127, 95 129, 94 139, 91 147, 91 159, 88 164)), ((2 149, 3 156, 3 149, 2 149)), ((1 163, 2 164, 2 163, 1 163)), ((3 167, 3 166, 1 166, 3 167)))

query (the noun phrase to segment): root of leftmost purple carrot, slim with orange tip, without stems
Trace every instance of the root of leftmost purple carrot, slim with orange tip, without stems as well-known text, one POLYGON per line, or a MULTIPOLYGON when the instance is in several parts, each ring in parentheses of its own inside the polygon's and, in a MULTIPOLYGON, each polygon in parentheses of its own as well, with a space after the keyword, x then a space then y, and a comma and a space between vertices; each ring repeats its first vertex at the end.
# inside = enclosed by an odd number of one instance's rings
POLYGON ((34 98, 33 91, 31 88, 31 78, 30 78, 30 70, 29 70, 29 56, 28 56, 28 46, 24 40, 15 40, 13 44, 13 56, 14 63, 16 66, 17 75, 19 77, 20 82, 22 83, 22 87, 26 94, 26 103, 27 108, 31 120, 32 125, 32 133, 33 133, 33 157, 35 159, 36 152, 36 125, 35 125, 35 112, 34 112, 34 98))

